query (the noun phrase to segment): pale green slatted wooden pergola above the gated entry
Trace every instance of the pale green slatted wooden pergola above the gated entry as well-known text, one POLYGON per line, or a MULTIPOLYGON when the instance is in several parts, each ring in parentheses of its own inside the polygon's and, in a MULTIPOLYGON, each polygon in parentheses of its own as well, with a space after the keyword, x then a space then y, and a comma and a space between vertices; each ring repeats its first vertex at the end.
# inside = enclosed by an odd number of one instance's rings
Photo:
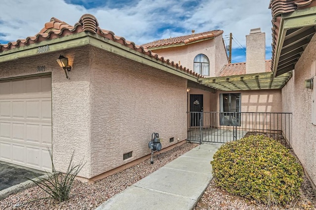
POLYGON ((284 73, 278 77, 274 77, 272 72, 263 72, 199 78, 199 83, 222 91, 268 90, 281 89, 291 76, 291 72, 284 73))

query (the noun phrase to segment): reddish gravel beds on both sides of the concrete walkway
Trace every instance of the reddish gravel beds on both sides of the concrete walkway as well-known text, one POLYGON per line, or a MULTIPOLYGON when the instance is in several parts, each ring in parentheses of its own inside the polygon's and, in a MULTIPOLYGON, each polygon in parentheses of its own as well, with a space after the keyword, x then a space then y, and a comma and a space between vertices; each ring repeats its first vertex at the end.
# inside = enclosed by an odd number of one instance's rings
MULTIPOLYGON (((126 189, 128 186, 155 172, 160 167, 176 159, 185 152, 193 149, 198 144, 184 143, 172 150, 155 155, 154 164, 146 160, 118 174, 108 176, 95 184, 86 184, 75 181, 71 192, 71 198, 63 203, 56 203, 51 199, 41 199, 47 195, 38 187, 32 187, 17 194, 10 195, 0 201, 0 209, 26 209, 26 210, 90 210, 95 209, 115 194, 126 189), (35 201, 34 201, 35 200, 35 201)), ((313 189, 304 176, 301 186, 301 196, 298 198, 295 208, 298 210, 311 210, 316 207, 316 197, 313 189)), ((197 203, 195 210, 260 210, 277 209, 267 208, 265 205, 257 204, 255 201, 247 200, 231 195, 225 190, 215 186, 214 180, 210 182, 197 203)))

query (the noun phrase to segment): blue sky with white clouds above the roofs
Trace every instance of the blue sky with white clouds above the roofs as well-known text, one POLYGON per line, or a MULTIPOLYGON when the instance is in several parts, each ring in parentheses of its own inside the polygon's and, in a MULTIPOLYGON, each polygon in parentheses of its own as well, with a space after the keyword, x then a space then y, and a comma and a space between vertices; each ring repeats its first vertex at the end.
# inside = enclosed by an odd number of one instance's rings
MULTIPOLYGON (((82 14, 94 15, 102 29, 144 44, 154 40, 223 30, 233 33, 232 62, 245 61, 245 35, 266 33, 271 59, 270 0, 1 0, 0 43, 36 35, 51 17, 74 25, 82 14)), ((227 40, 225 38, 225 40, 227 40)), ((229 41, 226 41, 229 44, 229 41)))

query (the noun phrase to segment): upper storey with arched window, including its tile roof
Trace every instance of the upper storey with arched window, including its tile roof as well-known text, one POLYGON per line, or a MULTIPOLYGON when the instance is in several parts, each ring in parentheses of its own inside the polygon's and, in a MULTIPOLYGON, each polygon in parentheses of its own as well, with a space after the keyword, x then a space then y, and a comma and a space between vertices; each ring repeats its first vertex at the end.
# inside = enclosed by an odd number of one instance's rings
POLYGON ((204 77, 216 76, 228 63, 222 30, 159 39, 143 47, 204 77))

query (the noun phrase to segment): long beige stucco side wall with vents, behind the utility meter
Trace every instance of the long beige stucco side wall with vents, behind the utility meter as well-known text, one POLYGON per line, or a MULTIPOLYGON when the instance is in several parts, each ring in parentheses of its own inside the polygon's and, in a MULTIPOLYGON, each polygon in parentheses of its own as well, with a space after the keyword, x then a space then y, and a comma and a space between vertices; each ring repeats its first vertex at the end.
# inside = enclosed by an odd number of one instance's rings
POLYGON ((161 70, 92 49, 91 168, 99 175, 150 154, 153 132, 167 147, 187 138, 187 81, 161 70), (169 139, 174 142, 169 143, 169 139), (132 151, 132 158, 123 154, 132 151))

